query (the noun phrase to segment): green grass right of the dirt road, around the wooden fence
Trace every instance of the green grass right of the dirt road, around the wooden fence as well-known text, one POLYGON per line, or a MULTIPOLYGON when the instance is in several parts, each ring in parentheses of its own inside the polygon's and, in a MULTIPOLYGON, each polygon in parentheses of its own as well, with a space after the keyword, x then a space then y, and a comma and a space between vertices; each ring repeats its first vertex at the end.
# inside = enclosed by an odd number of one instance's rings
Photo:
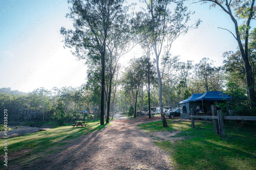
POLYGON ((226 137, 214 134, 210 122, 176 122, 167 120, 139 125, 146 132, 172 131, 184 136, 185 140, 175 143, 156 141, 156 146, 167 151, 170 161, 177 169, 255 169, 256 167, 256 124, 227 123, 226 137))

